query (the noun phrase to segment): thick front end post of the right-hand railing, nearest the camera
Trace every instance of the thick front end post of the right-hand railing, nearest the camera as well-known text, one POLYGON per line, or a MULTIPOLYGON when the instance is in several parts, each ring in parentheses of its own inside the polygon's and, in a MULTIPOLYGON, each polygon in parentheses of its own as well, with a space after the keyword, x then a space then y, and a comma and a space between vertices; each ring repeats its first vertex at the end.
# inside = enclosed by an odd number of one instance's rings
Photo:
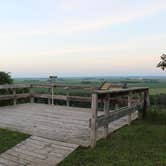
POLYGON ((97 109, 98 109, 98 95, 96 93, 92 94, 91 109, 92 109, 92 117, 90 124, 91 127, 90 146, 91 148, 94 148, 96 146, 96 135, 97 135, 96 118, 97 118, 97 109))

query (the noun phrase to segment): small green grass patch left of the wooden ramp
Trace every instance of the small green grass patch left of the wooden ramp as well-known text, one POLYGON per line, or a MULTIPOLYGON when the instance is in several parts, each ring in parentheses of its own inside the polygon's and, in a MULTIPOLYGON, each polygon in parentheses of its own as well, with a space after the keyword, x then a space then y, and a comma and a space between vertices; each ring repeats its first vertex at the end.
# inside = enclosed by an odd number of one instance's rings
POLYGON ((7 129, 0 129, 0 153, 28 138, 29 135, 7 129))

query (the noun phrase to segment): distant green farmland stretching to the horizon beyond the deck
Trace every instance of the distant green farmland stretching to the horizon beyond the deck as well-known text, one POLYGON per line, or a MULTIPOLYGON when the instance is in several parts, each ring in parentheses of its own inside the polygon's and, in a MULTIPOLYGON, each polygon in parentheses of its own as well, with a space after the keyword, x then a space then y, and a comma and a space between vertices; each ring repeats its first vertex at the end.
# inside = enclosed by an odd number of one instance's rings
MULTIPOLYGON (((31 78, 31 79, 18 79, 16 78, 15 83, 48 83, 47 78, 31 78)), ((84 78, 84 77, 75 77, 75 78, 58 78, 56 80, 57 84, 65 84, 65 85, 79 85, 79 86, 96 86, 100 87, 104 81, 112 82, 112 83, 127 83, 128 87, 149 87, 150 95, 156 95, 161 93, 166 93, 166 77, 145 77, 145 78, 135 78, 135 77, 96 77, 96 78, 84 78)), ((42 90, 45 92, 45 89, 42 90)), ((88 95, 89 93, 79 90, 70 90, 72 95, 88 95)), ((66 90, 57 89, 55 90, 56 94, 66 94, 66 90)))

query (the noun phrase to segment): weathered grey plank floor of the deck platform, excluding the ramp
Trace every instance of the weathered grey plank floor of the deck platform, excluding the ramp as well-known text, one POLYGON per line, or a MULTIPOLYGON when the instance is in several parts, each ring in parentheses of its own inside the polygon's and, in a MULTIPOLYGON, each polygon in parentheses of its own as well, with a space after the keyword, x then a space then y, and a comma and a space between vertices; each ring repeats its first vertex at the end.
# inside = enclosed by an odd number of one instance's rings
MULTIPOLYGON (((46 104, 21 104, 0 107, 0 127, 17 130, 34 136, 81 146, 90 145, 90 109, 46 104)), ((132 117, 135 119, 136 115, 132 117)), ((128 123, 128 117, 110 124, 114 131, 128 123)), ((98 139, 103 136, 102 128, 98 139)))

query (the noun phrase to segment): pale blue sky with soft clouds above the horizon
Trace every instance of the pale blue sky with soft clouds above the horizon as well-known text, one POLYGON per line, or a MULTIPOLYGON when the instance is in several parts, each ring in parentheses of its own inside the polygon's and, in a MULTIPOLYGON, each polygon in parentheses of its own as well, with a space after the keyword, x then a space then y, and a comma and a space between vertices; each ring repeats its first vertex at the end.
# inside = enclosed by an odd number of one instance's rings
POLYGON ((13 77, 160 75, 166 0, 0 2, 0 71, 13 77))

